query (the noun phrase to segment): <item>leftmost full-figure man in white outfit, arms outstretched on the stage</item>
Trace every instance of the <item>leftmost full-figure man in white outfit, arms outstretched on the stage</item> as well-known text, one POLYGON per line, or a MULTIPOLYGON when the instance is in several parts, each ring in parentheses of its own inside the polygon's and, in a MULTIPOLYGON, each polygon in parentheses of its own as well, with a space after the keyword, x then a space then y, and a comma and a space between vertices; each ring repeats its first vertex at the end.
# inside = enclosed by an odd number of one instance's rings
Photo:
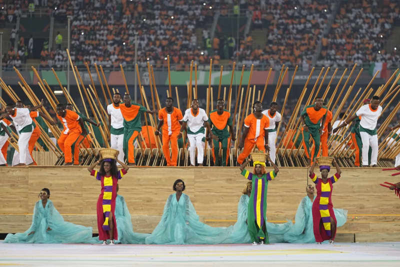
MULTIPOLYGON (((40 104, 34 106, 32 109, 40 108, 43 105, 43 99, 40 104)), ((5 106, 9 119, 14 122, 15 128, 19 135, 18 137, 18 150, 19 150, 19 163, 16 166, 24 166, 33 162, 29 154, 29 139, 32 135, 35 124, 30 117, 28 108, 15 107, 14 103, 8 103, 5 106)))

